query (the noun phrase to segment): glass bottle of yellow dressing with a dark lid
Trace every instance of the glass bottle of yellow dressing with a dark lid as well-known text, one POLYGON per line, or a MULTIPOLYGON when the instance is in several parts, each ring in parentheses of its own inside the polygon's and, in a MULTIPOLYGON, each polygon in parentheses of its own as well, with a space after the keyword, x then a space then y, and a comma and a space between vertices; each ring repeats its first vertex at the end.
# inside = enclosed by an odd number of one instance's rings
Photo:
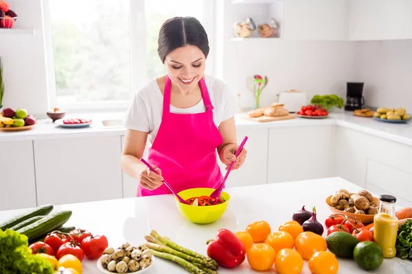
POLYGON ((374 216, 374 240, 382 249, 384 258, 396 256, 396 236, 398 218, 396 217, 396 197, 380 195, 379 212, 374 216))

